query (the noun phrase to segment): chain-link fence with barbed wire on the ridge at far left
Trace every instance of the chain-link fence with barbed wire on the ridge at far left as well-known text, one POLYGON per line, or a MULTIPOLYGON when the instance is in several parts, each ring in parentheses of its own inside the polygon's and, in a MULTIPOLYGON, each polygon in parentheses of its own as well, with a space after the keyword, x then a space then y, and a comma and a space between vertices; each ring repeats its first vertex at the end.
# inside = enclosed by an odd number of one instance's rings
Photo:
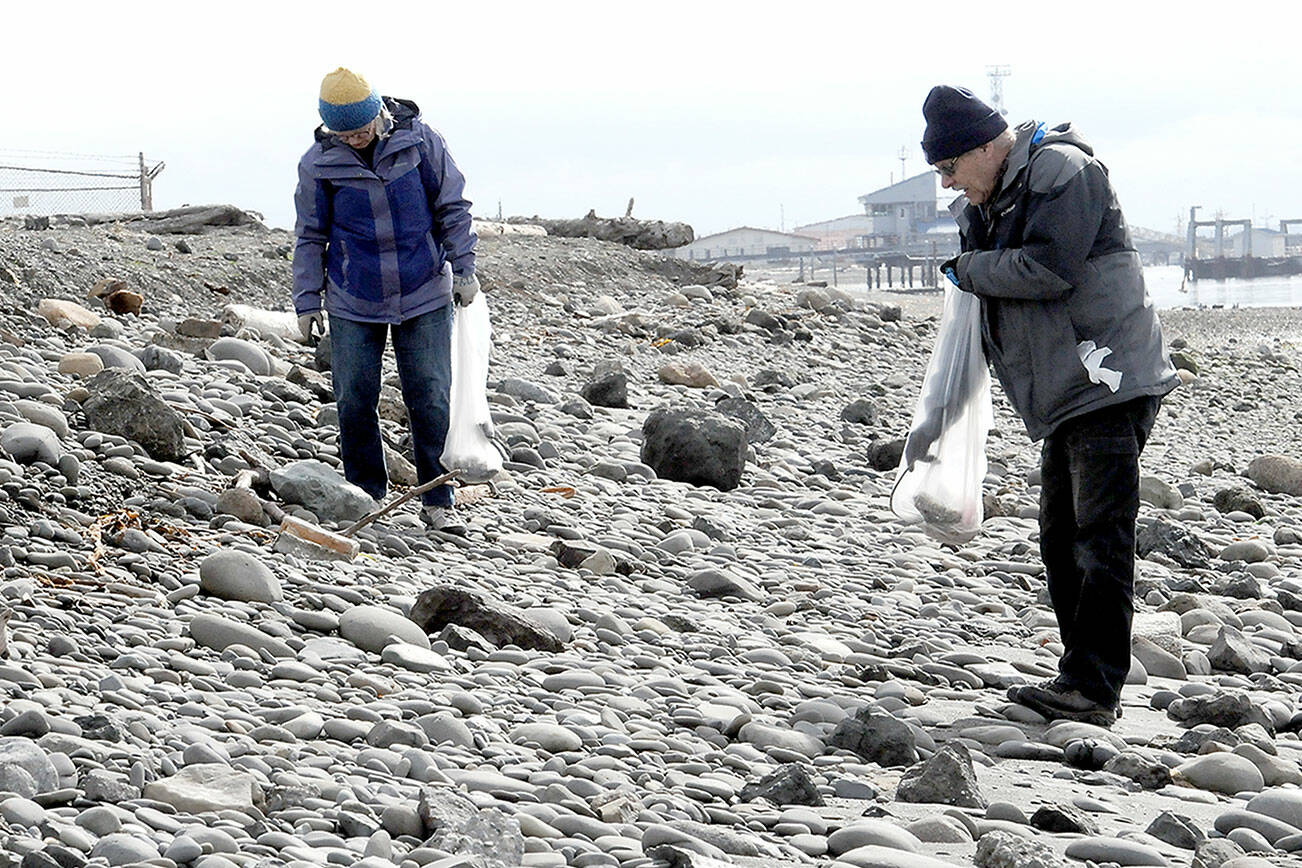
POLYGON ((105 156, 0 150, 0 217, 152 211, 155 176, 143 154, 105 156))

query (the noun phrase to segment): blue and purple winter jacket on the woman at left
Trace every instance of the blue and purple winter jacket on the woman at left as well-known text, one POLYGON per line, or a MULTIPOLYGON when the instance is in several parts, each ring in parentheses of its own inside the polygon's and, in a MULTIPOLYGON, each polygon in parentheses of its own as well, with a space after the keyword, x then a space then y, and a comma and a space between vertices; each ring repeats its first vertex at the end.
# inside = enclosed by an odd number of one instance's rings
POLYGON ((294 311, 401 323, 452 299, 452 273, 475 269, 466 180, 415 103, 393 115, 375 168, 323 129, 298 163, 294 311))

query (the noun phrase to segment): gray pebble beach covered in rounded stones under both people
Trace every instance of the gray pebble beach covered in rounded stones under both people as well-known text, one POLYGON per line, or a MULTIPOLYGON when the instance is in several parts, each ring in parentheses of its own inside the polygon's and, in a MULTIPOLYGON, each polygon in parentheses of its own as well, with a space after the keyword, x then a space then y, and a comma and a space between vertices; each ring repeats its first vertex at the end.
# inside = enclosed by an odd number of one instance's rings
POLYGON ((279 515, 375 505, 292 236, 0 221, 0 864, 1302 865, 1302 310, 1161 312, 1100 729, 1005 699, 1061 647, 997 387, 980 532, 889 509, 939 293, 508 232, 504 472, 326 560, 279 515), (652 466, 661 410, 743 431, 734 487, 652 466))

